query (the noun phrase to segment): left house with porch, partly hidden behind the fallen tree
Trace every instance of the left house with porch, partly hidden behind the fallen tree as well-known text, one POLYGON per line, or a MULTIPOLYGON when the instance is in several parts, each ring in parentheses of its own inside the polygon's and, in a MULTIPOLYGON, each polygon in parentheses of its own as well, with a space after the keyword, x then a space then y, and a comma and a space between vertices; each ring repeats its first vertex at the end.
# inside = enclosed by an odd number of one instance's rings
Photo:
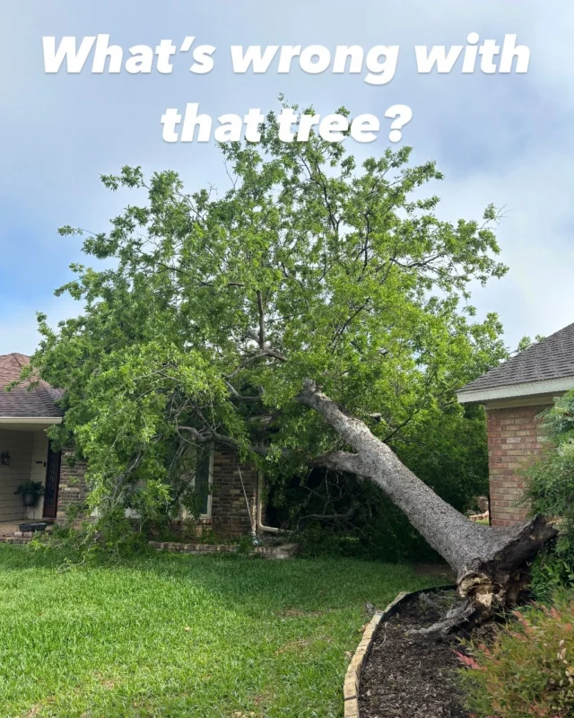
MULTIPOLYGON (((0 535, 3 524, 5 529, 20 521, 62 519, 72 505, 83 503, 87 494, 86 465, 78 462, 70 466, 65 460, 70 452, 65 451, 63 456, 52 451, 46 433, 50 426, 62 422, 57 407, 61 392, 45 381, 31 389, 22 384, 5 390, 29 363, 25 355, 0 355, 0 535), (45 493, 36 506, 26 508, 22 495, 14 492, 29 479, 41 482, 45 493)), ((215 447, 197 470, 201 476, 191 480, 209 487, 198 523, 213 527, 222 537, 250 533, 261 515, 257 469, 241 463, 236 451, 215 447)), ((257 528, 269 529, 260 523, 257 528)))

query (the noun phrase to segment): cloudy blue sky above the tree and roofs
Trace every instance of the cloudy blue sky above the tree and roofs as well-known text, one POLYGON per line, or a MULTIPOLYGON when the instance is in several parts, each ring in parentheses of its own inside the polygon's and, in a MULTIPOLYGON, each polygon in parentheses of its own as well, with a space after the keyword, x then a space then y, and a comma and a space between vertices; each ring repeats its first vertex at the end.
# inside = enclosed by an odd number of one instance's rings
MULTIPOLYGON (((214 118, 250 108, 277 109, 283 93, 327 114, 383 118, 405 104, 413 118, 402 142, 413 162, 435 160, 445 179, 433 191, 439 214, 480 219, 504 207, 498 227, 503 279, 473 286, 479 317, 499 314, 509 348, 520 337, 548 336, 574 321, 574 4, 571 0, 4 0, 0 22, 0 354, 30 354, 35 315, 52 323, 81 307, 54 290, 81 241, 64 224, 105 231, 132 197, 110 193, 100 175, 123 165, 173 169, 190 189, 225 188, 214 144, 170 144, 161 137, 167 108, 198 102, 214 118), (469 33, 499 42, 516 33, 530 48, 526 74, 418 74, 415 45, 465 45, 469 33), (109 33, 123 48, 161 39, 213 45, 214 68, 191 74, 46 74, 42 37, 109 33), (399 45, 396 74, 376 86, 363 74, 234 74, 230 45, 399 45)), ((386 127, 383 124, 383 127, 386 127)), ((377 155, 386 131, 358 156, 377 155)))

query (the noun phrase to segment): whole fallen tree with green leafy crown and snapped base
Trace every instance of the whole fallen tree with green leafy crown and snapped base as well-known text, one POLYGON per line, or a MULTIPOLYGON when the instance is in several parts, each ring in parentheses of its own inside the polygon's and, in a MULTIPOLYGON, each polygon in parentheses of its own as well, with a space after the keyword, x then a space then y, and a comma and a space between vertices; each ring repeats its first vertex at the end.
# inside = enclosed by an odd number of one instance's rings
POLYGON ((374 481, 456 570, 457 620, 516 600, 552 527, 467 521, 388 445, 506 356, 496 316, 475 321, 467 304, 471 281, 506 271, 497 213, 440 220, 422 195, 434 163, 412 168, 403 148, 357 170, 342 144, 280 142, 273 115, 261 144, 222 152, 221 198, 124 168, 104 184, 147 204, 109 233, 61 231, 113 261, 73 267, 59 292, 83 314, 57 330, 40 316, 30 372, 65 387, 51 435, 89 460, 99 521, 178 495, 187 447, 215 442, 275 478, 318 462, 374 481), (301 390, 306 377, 317 385, 301 390))

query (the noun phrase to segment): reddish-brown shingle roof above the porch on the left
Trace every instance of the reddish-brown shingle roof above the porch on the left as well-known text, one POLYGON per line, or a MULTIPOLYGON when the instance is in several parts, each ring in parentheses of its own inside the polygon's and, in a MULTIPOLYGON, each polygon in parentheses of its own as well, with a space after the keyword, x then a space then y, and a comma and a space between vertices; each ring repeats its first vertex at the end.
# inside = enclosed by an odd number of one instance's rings
POLYGON ((30 381, 24 381, 11 391, 5 388, 20 378, 22 368, 30 364, 30 357, 23 354, 0 355, 0 418, 58 418, 62 411, 56 401, 62 392, 53 389, 46 381, 30 389, 30 381))

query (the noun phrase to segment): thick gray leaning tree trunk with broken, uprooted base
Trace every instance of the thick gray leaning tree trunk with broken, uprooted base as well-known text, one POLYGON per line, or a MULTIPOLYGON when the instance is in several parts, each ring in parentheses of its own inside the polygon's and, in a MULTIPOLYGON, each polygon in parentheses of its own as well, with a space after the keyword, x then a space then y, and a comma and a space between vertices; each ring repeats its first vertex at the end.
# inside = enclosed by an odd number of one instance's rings
POLYGON ((526 587, 526 561, 556 534, 552 525, 541 516, 509 529, 469 521, 406 468, 367 425, 348 416, 313 382, 306 382, 297 399, 323 416, 354 450, 334 451, 321 462, 369 477, 383 489, 456 571, 458 591, 468 599, 467 614, 471 608, 490 613, 495 605, 517 600, 526 587))

